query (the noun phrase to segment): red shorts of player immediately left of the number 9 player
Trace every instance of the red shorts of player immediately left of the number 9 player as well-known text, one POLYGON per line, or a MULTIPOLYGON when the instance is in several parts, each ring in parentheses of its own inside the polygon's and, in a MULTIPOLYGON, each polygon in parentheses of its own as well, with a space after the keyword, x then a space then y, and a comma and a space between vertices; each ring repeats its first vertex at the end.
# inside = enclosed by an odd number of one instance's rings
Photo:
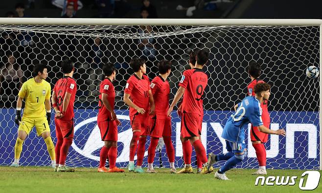
POLYGON ((162 116, 160 119, 157 115, 150 117, 150 126, 148 135, 151 137, 171 137, 171 118, 168 116, 162 116))

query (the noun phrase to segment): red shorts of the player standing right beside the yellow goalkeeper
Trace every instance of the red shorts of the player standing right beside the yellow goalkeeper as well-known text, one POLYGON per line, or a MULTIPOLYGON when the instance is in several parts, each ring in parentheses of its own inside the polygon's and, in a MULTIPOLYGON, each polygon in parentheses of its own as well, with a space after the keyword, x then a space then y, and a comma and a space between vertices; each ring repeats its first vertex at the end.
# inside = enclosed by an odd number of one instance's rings
POLYGON ((74 121, 60 120, 55 118, 56 136, 62 138, 74 138, 74 121))

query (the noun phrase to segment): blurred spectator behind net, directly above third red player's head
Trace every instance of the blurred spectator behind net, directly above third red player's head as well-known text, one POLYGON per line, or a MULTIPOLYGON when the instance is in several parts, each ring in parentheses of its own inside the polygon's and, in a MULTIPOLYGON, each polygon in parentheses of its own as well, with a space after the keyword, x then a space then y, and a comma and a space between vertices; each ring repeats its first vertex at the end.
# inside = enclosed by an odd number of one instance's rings
MULTIPOLYGON (((153 29, 150 25, 140 26, 138 33, 142 34, 142 36, 147 36, 153 33, 153 29)), ((155 43, 156 40, 152 37, 140 39, 138 42, 138 48, 142 51, 142 55, 150 61, 154 61, 156 59, 157 50, 155 49, 155 43)))

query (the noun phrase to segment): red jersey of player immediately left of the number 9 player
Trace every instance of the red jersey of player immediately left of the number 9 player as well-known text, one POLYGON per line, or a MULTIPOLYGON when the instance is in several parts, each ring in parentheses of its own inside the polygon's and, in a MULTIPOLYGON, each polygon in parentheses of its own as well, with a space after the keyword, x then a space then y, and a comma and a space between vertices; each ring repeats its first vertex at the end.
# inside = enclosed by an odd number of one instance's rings
POLYGON ((159 75, 152 80, 150 87, 156 106, 157 118, 165 118, 169 109, 169 83, 159 75))

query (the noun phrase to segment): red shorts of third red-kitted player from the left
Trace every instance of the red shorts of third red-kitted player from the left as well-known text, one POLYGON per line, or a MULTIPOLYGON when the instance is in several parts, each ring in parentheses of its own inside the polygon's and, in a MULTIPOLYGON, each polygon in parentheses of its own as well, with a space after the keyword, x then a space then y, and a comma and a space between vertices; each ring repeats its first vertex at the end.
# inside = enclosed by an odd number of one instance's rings
POLYGON ((140 130, 140 135, 147 135, 150 117, 145 114, 135 114, 130 116, 130 124, 133 130, 140 130))

